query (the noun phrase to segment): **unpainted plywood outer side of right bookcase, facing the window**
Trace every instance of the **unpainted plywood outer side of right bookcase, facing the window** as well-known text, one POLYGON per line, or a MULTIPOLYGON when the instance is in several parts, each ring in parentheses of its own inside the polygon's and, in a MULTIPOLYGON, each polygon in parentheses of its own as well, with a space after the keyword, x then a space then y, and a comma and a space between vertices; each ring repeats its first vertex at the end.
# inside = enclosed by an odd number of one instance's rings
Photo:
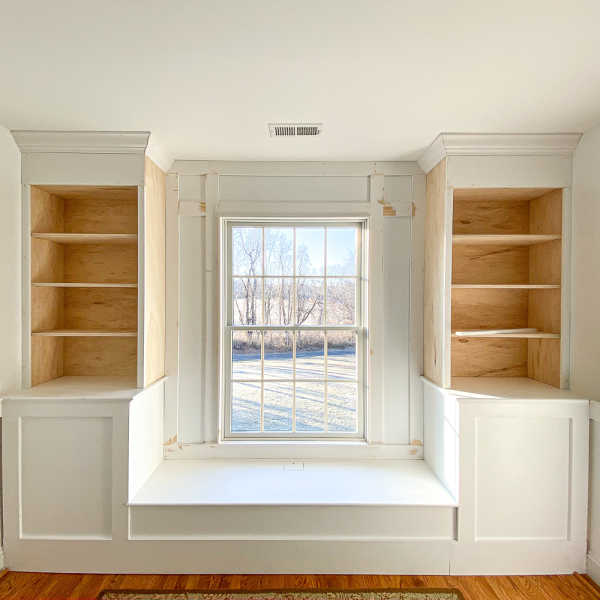
MULTIPOLYGON (((427 174, 425 204, 424 373, 444 387, 446 327, 446 161, 427 174)), ((449 382, 447 382, 449 384, 449 382)))

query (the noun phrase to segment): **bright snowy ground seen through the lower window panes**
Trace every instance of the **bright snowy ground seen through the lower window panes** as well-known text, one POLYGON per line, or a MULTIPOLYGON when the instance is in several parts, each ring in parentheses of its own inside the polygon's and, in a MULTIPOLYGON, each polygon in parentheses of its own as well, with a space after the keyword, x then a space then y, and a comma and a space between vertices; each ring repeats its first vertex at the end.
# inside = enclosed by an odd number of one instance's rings
MULTIPOLYGON (((353 432, 357 428, 356 354, 354 349, 329 351, 327 383, 296 383, 296 431, 325 430, 327 386, 327 430, 353 432), (354 380, 354 381, 344 381, 354 380)), ((233 359, 234 379, 260 378, 260 353, 239 354, 233 359)), ((265 353, 265 379, 293 379, 291 352, 265 353)), ((323 351, 296 354, 296 380, 325 379, 323 351)), ((293 383, 264 382, 264 430, 292 431, 293 383)), ((232 383, 232 431, 260 431, 261 384, 232 383)))

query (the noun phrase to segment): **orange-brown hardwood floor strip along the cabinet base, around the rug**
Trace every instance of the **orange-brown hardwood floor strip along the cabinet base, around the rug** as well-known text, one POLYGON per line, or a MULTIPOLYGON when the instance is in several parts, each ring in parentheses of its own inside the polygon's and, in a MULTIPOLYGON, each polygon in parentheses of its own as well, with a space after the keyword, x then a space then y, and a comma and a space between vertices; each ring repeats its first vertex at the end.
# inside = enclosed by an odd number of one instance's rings
POLYGON ((105 589, 454 587, 465 600, 600 600, 587 575, 446 577, 395 575, 79 575, 7 572, 2 600, 92 600, 105 589))

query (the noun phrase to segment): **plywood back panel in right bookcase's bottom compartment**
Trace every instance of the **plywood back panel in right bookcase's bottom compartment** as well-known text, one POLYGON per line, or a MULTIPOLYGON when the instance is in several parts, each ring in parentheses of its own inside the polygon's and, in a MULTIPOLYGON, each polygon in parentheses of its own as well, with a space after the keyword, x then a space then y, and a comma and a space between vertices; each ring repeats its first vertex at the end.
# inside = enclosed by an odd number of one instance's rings
POLYGON ((527 377, 529 341, 515 338, 452 338, 452 377, 527 377))

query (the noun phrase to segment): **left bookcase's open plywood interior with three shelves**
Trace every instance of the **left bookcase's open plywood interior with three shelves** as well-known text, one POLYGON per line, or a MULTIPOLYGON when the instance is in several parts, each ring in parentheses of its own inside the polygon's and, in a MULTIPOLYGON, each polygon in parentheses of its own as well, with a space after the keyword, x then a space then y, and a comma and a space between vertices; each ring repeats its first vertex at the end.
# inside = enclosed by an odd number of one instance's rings
POLYGON ((31 186, 31 382, 137 374, 138 188, 31 186))

